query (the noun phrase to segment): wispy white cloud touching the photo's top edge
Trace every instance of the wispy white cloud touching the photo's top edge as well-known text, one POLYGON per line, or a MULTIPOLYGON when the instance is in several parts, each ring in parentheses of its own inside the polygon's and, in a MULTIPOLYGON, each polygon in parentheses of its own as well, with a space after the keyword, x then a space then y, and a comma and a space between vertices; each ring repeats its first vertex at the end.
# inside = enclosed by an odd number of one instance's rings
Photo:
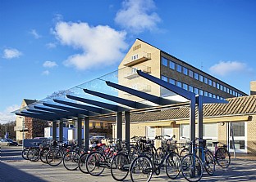
POLYGON ((122 8, 117 12, 115 21, 122 28, 135 33, 145 29, 158 29, 157 24, 161 21, 156 12, 153 0, 127 0, 122 3, 122 8))

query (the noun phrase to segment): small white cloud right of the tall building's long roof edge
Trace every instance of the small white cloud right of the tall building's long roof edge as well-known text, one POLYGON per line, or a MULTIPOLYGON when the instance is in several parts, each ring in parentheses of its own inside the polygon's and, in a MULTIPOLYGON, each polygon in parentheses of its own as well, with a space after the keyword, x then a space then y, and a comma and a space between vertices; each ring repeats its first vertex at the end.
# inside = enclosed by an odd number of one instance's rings
POLYGON ((220 61, 218 64, 214 64, 209 70, 213 74, 226 76, 231 73, 249 71, 249 68, 245 63, 239 61, 220 61))

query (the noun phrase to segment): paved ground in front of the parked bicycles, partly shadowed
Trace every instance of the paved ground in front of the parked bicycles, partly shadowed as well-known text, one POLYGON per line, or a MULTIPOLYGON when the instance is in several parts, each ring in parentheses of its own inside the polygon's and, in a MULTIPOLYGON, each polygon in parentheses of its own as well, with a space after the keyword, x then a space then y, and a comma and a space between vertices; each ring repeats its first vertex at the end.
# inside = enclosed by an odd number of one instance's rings
MULTIPOLYGON (((106 182, 114 181, 109 170, 105 170, 103 175, 94 177, 83 174, 80 171, 67 171, 60 166, 49 166, 42 162, 29 162, 21 159, 21 148, 2 148, 0 162, 0 181, 78 181, 78 182, 106 182)), ((125 181, 130 181, 128 175, 125 181)), ((165 173, 153 175, 151 181, 174 181, 166 177, 165 173)), ((175 181, 186 181, 181 175, 175 181)), ((256 161, 250 159, 232 159, 231 166, 222 170, 217 167, 213 176, 203 175, 201 181, 256 181, 256 161)))

